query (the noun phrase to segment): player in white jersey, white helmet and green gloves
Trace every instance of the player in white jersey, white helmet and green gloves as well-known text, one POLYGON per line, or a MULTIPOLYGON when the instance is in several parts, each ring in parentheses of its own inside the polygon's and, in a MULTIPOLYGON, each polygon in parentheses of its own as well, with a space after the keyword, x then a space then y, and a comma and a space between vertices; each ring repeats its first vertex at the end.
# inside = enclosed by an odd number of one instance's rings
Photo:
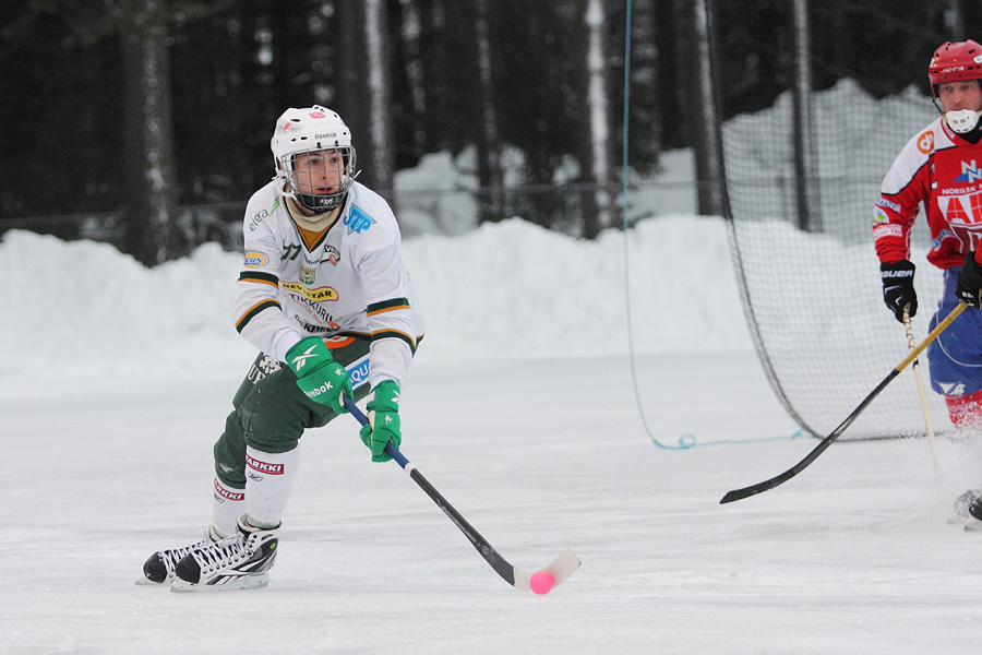
POLYGON ((249 200, 236 298, 236 329, 260 354, 214 446, 212 524, 144 564, 178 591, 268 583, 300 437, 346 413, 343 395, 373 394, 360 432, 373 461, 402 442, 400 388, 424 323, 396 218, 355 181, 351 133, 331 109, 287 109, 271 145, 276 177, 249 200))

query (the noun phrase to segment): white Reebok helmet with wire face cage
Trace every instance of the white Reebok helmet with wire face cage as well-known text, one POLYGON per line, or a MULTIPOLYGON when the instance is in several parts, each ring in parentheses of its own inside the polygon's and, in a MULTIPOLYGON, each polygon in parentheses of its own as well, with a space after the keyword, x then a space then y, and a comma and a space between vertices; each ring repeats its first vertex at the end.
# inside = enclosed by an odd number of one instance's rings
MULTIPOLYGON (((276 120, 276 131, 270 143, 276 164, 276 177, 286 182, 282 193, 294 198, 314 212, 327 212, 345 202, 345 194, 355 182, 355 147, 351 131, 336 111, 314 105, 303 109, 290 107, 276 120), (340 186, 331 193, 298 192, 296 157, 318 151, 340 151, 344 166, 339 171, 340 186)), ((307 188, 311 188, 310 184, 307 188)))

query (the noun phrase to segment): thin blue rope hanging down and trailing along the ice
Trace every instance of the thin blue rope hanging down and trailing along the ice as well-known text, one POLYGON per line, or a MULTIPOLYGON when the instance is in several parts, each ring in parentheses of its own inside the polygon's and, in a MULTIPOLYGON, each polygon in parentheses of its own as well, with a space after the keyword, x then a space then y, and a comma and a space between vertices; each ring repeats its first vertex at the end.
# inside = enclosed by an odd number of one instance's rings
POLYGON ((648 434, 651 443, 663 450, 688 450, 698 445, 759 443, 762 441, 782 441, 786 439, 797 439, 798 437, 803 437, 804 432, 802 432, 802 430, 798 430, 790 437, 765 437, 761 439, 750 439, 746 441, 722 439, 718 441, 709 441, 707 443, 698 443, 696 442, 696 438, 694 436, 682 434, 679 438, 678 445, 668 445, 658 441, 658 439, 651 432, 651 428, 648 427, 648 419, 645 417, 645 410, 642 403, 640 390, 637 385, 637 366, 635 364, 634 357, 634 332, 631 323, 631 274, 627 262, 627 118, 631 109, 631 10, 632 0, 627 0, 627 25, 624 37, 624 131, 622 144, 624 158, 621 164, 621 178, 623 182, 623 188, 621 190, 621 210, 622 230, 624 233, 624 296, 627 312, 627 350, 631 360, 631 381, 634 385, 634 398, 637 404, 637 413, 638 416, 640 416, 642 425, 645 427, 645 432, 648 434))

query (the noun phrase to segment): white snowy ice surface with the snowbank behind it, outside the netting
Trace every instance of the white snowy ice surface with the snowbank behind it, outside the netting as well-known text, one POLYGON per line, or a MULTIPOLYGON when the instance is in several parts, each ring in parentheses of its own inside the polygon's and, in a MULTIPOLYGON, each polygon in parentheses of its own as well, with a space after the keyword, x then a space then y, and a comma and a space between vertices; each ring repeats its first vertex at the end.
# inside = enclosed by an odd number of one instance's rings
POLYGON ((231 325, 239 258, 205 247, 148 271, 12 233, 0 652, 978 651, 982 533, 946 523, 979 481, 971 448, 939 444, 936 485, 923 440, 836 444, 718 504, 817 443, 756 361, 719 219, 628 233, 633 362, 616 231, 508 221, 405 252, 429 331, 404 453, 513 564, 576 550, 572 579, 542 597, 506 585, 343 418, 302 440, 268 588, 134 585, 209 517, 211 446, 253 357, 231 325))

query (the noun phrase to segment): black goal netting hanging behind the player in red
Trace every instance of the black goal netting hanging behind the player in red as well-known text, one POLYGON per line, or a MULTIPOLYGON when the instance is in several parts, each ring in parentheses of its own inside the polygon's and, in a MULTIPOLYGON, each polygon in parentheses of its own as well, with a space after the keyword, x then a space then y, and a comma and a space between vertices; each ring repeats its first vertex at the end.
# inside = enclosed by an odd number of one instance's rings
MULTIPOLYGON (((831 432, 909 353, 903 325, 882 299, 871 223, 879 184, 907 141, 937 117, 909 91, 881 100, 842 81, 811 98, 809 229, 799 227, 793 106, 787 93, 769 109, 723 126, 730 245, 751 332, 788 410, 816 436, 831 432)), ((805 148, 807 150, 807 148, 805 148)), ((915 343, 941 297, 942 275, 925 259, 926 221, 911 238, 920 311, 915 343)), ((927 384, 927 361, 920 358, 927 384)), ((912 368, 903 371, 843 439, 924 433, 912 368)), ((927 386, 935 430, 950 428, 927 386)))

